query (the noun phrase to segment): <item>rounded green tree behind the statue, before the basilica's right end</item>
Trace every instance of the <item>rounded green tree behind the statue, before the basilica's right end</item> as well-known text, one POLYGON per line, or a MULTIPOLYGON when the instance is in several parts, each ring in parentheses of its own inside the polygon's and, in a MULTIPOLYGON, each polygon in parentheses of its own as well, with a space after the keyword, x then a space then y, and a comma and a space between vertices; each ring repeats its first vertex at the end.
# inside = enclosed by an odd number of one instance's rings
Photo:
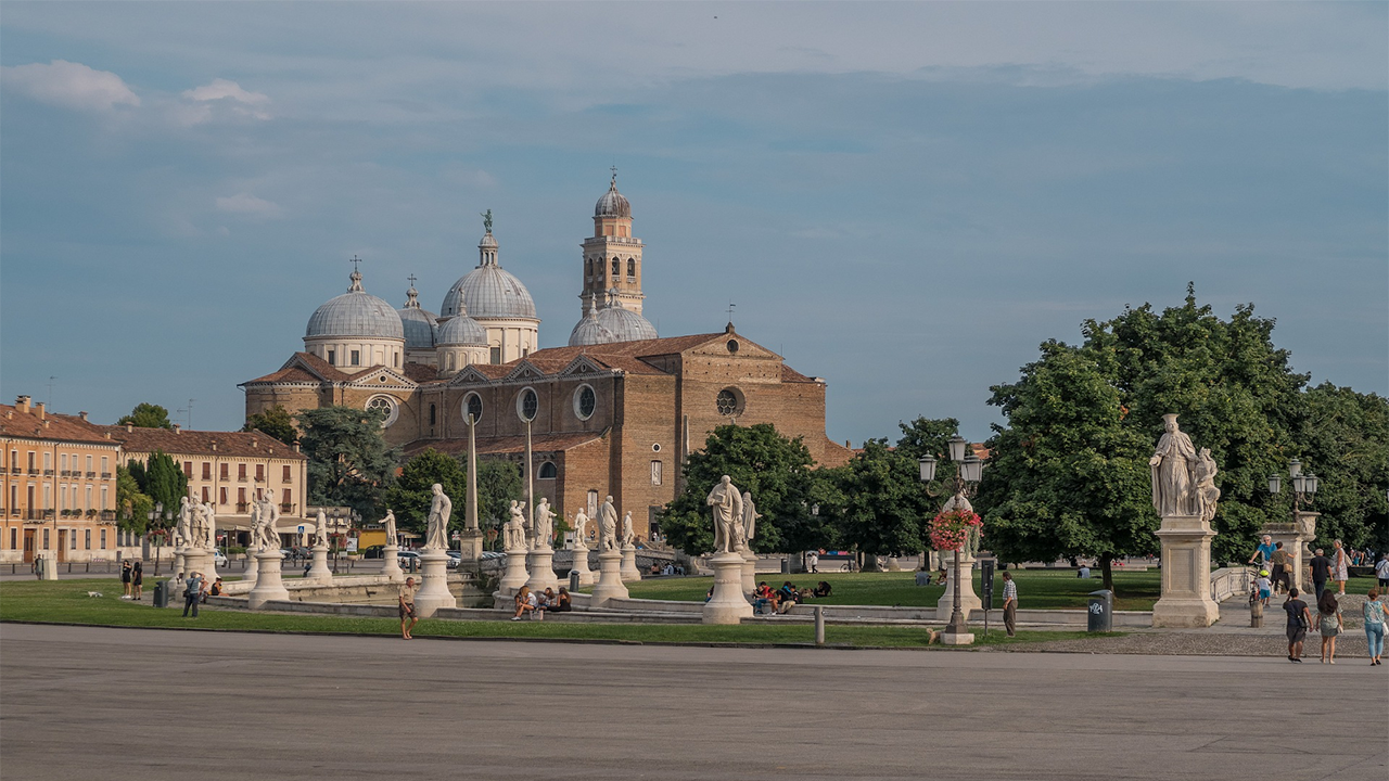
POLYGON ((771 424, 721 425, 704 450, 685 464, 685 489, 661 511, 661 529, 671 545, 688 553, 714 548, 714 525, 704 504, 708 491, 729 475, 739 491, 751 492, 757 511, 753 549, 770 553, 818 546, 822 521, 813 514, 810 450, 776 434, 771 424))

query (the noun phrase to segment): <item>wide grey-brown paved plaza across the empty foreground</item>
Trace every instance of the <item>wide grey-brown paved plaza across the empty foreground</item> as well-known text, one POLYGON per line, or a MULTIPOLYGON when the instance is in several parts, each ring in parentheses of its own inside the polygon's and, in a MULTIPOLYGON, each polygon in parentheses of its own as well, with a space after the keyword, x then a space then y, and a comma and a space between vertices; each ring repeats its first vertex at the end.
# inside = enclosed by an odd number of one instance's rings
POLYGON ((1382 781, 1382 670, 6 624, 0 731, 63 781, 1382 781))

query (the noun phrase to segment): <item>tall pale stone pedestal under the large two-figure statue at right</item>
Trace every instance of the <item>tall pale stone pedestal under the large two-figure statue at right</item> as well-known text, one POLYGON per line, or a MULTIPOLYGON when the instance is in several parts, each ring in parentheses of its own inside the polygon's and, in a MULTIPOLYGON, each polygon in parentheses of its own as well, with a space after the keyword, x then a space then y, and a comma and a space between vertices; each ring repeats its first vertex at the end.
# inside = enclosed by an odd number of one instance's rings
POLYGON ((1153 606, 1154 627, 1210 627, 1220 617, 1211 599, 1211 531, 1199 516, 1168 516, 1157 529, 1163 542, 1163 596, 1153 606))

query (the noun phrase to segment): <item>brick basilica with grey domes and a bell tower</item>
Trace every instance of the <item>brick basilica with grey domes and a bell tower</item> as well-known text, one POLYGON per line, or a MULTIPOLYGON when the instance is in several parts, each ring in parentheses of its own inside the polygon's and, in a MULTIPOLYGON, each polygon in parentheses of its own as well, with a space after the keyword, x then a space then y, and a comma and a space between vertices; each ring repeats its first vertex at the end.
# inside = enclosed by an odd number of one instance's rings
MULTIPOLYGON (((467 450, 524 461, 532 436, 536 500, 572 520, 607 495, 639 535, 681 489, 685 457, 728 422, 770 422, 799 436, 818 464, 845 463, 825 436, 825 381, 738 334, 657 335, 643 315, 640 239, 614 175, 593 210, 579 261, 581 315, 568 346, 539 347, 540 318, 525 285, 501 267, 490 211, 478 265, 443 297, 439 314, 411 283, 394 309, 353 271, 346 293, 308 318, 304 349, 240 386, 246 413, 331 404, 381 409, 386 439, 414 454, 467 450)), ((413 282, 413 279, 411 279, 413 282)), ((486 518, 483 520, 488 521, 486 518)))

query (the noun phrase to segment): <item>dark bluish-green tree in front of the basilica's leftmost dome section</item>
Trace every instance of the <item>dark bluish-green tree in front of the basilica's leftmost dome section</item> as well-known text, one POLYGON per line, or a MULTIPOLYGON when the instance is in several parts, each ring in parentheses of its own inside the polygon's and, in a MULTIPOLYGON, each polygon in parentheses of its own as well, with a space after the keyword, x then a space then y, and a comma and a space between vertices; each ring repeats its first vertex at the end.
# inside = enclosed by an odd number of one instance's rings
POLYGON ((308 502, 379 517, 381 495, 400 456, 382 435, 385 410, 332 406, 294 417, 303 431, 301 452, 308 457, 308 502))

